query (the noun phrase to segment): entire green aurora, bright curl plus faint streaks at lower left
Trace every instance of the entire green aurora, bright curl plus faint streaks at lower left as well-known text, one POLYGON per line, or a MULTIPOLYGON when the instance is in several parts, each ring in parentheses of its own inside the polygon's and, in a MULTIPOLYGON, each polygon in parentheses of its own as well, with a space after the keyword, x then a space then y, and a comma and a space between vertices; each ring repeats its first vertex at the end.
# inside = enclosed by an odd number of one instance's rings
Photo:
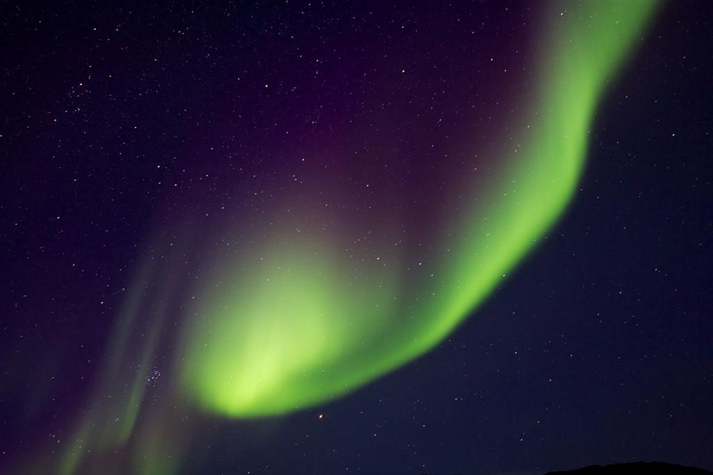
POLYGON ((154 242, 168 264, 148 255, 139 266, 96 387, 64 438, 67 448, 49 447, 55 455, 47 459, 28 456, 16 473, 96 473, 86 469, 102 466, 108 474, 173 474, 199 424, 185 422, 192 407, 218 417, 287 414, 330 402, 429 351, 567 207, 597 103, 656 9, 656 1, 548 9, 538 84, 513 134, 517 152, 496 150, 503 168, 486 192, 463 184, 464 200, 473 195, 468 203, 486 204, 438 223, 431 262, 397 254, 396 230, 379 230, 384 252, 376 260, 373 252, 348 255, 337 235, 294 233, 283 223, 257 230, 272 240, 215 263, 205 276, 212 285, 193 290, 166 277, 172 262, 185 260, 189 242, 154 242), (174 317, 185 312, 185 300, 188 312, 174 317), (173 337, 165 334, 172 320, 182 325, 178 344, 169 344, 172 382, 154 390, 160 404, 150 407, 145 381, 173 337))

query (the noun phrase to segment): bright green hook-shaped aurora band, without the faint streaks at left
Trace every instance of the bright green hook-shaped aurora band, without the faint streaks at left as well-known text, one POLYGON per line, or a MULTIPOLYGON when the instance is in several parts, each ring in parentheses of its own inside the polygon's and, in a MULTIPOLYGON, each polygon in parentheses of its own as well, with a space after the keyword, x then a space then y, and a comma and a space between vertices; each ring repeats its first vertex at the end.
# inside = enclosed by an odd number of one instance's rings
POLYGON ((272 233, 196 300, 176 370, 190 401, 230 417, 329 402, 428 351, 483 302, 568 205, 597 103, 656 3, 560 6, 517 152, 501 152, 487 205, 450 218, 439 262, 419 273, 406 256, 349 259, 336 237, 272 233))

